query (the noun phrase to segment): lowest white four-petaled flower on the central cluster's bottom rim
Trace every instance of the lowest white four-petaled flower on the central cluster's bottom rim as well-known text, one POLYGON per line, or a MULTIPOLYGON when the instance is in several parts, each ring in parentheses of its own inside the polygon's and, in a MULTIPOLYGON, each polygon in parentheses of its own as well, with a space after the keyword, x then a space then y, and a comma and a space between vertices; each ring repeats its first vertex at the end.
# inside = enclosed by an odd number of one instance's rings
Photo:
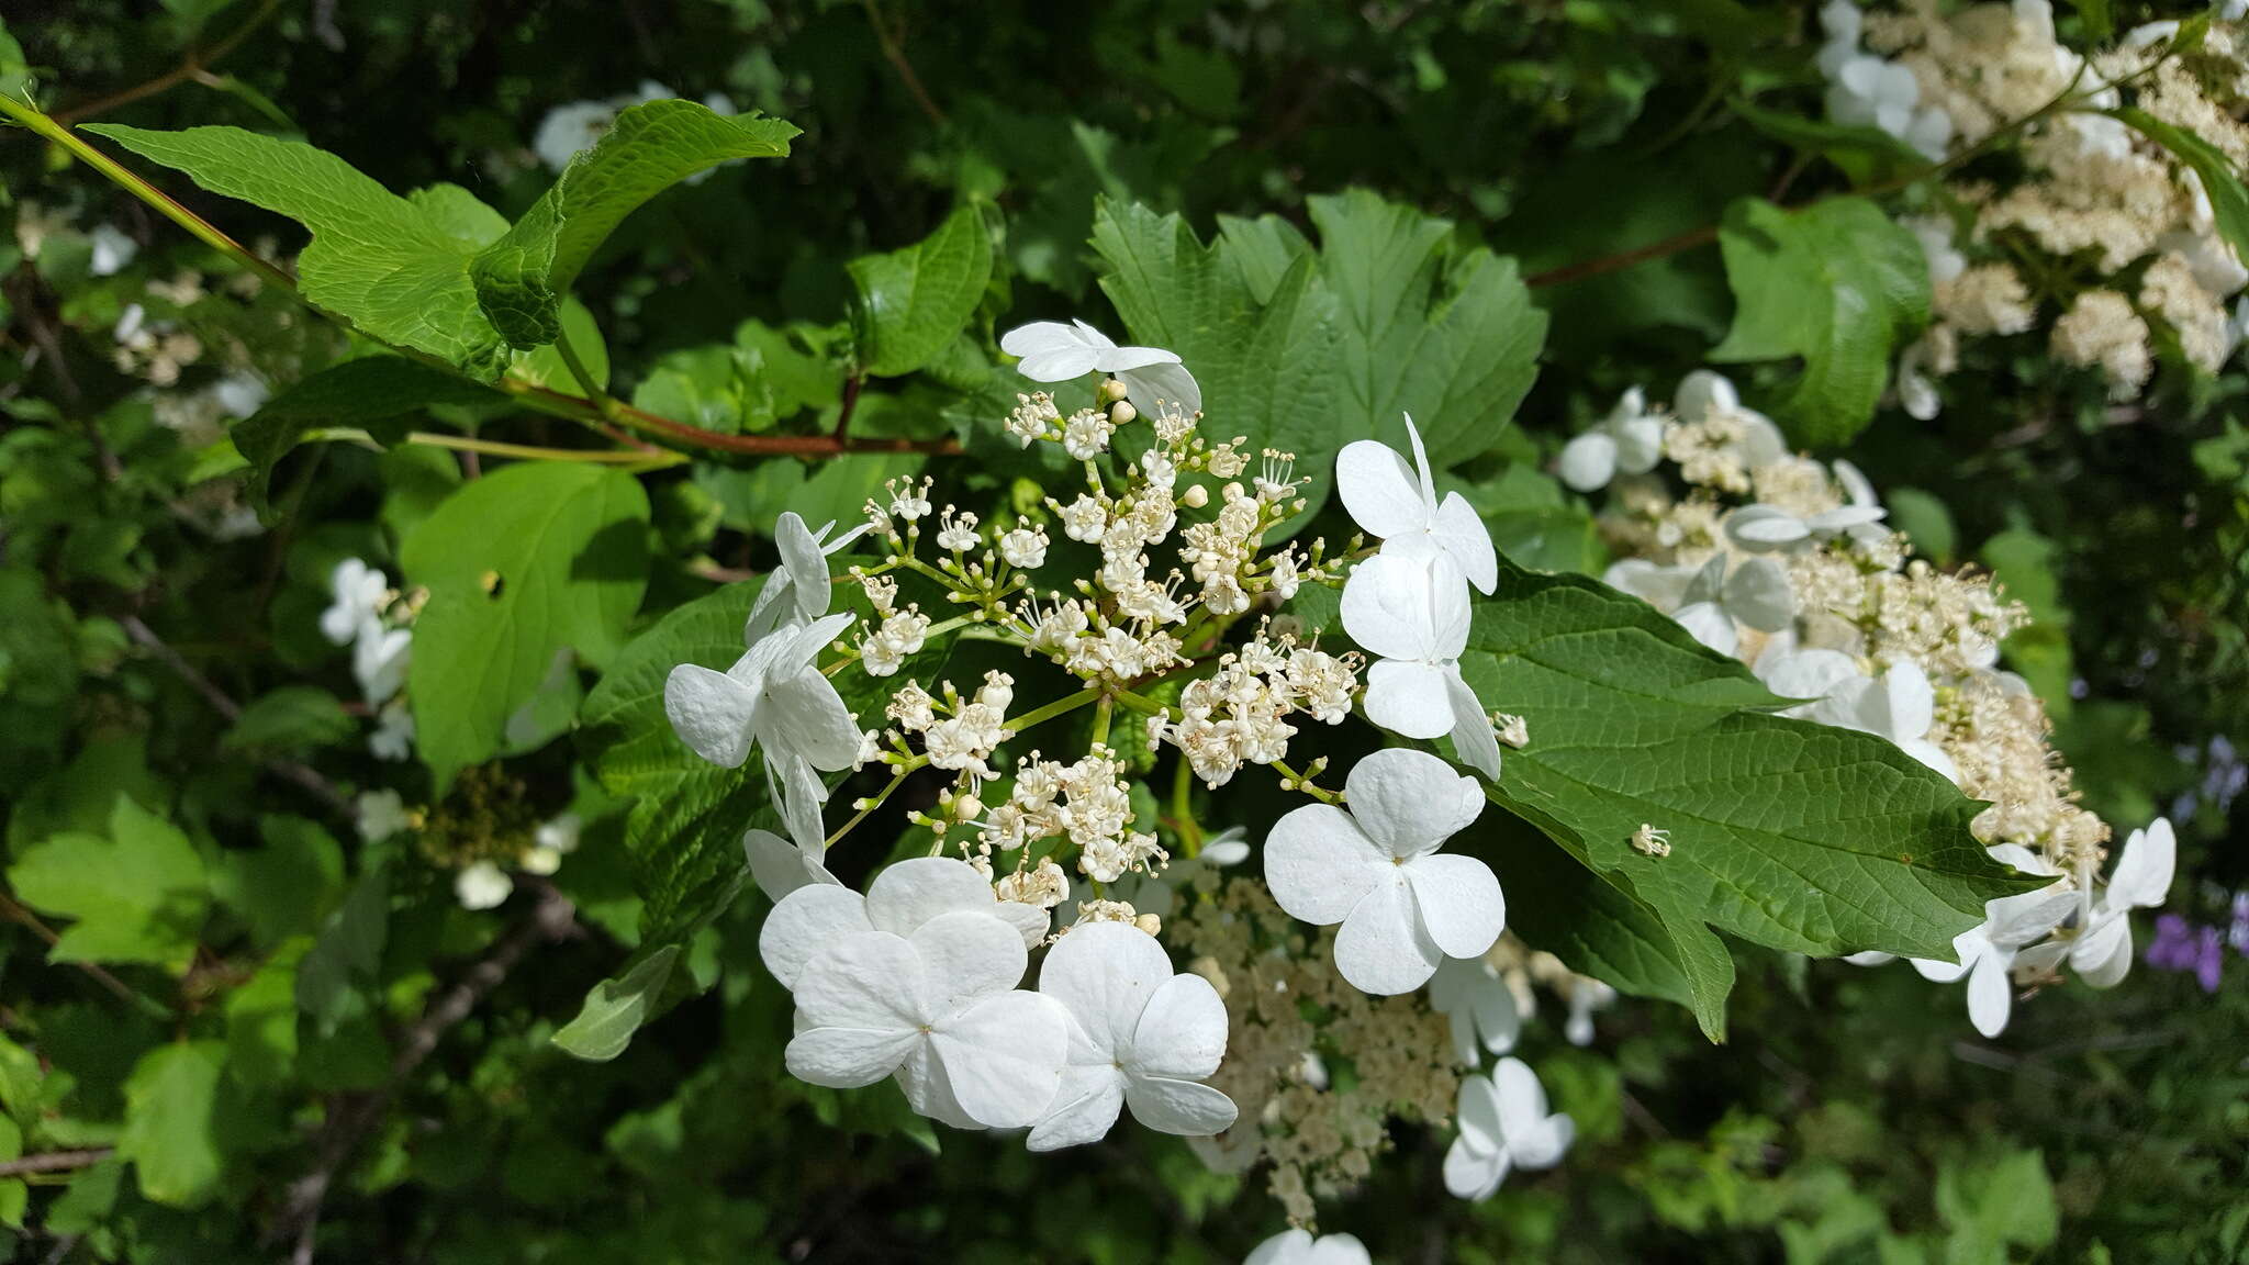
POLYGON ((1235 1123, 1235 1101, 1201 1080, 1226 1053, 1226 1002, 1131 923, 1073 927, 1046 954, 1039 993, 1071 1015, 1062 1089, 1030 1130, 1032 1150, 1100 1141, 1131 1107, 1142 1125, 1210 1137, 1235 1123))

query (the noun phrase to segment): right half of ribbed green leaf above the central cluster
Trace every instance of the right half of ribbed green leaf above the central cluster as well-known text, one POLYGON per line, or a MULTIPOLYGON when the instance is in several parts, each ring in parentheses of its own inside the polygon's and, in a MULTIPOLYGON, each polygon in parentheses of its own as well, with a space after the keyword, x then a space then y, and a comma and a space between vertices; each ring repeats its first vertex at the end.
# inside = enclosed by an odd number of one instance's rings
POLYGON ((1437 468, 1489 452, 1545 342, 1514 259, 1460 250, 1451 221, 1367 189, 1311 198, 1311 223, 1340 315, 1343 439, 1403 443, 1399 414, 1412 414, 1437 468))

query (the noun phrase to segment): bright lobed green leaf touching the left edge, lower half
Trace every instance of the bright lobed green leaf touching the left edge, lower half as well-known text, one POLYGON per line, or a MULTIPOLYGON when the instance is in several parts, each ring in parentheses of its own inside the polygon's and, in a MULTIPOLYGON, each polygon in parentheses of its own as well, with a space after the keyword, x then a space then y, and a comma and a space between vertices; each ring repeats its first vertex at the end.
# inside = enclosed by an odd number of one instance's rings
POLYGON ((146 961, 182 972, 211 905, 196 844, 126 795, 110 808, 108 840, 54 835, 25 849, 7 878, 34 909, 74 918, 49 961, 146 961))

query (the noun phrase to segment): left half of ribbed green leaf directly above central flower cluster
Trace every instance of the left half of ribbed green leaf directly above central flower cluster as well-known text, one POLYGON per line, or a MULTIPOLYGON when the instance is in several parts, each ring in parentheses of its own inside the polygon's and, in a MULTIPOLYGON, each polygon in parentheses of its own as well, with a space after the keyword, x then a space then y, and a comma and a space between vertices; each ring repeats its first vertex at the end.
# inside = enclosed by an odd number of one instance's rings
MULTIPOLYGON (((1203 245, 1181 216, 1102 200, 1093 216, 1102 290, 1133 342, 1176 351, 1203 387, 1208 434, 1295 452, 1307 515, 1334 484, 1336 450, 1363 439, 1336 371, 1334 299, 1298 259, 1259 302, 1232 250, 1203 245)), ((1302 522, 1302 518, 1298 520, 1302 522)))

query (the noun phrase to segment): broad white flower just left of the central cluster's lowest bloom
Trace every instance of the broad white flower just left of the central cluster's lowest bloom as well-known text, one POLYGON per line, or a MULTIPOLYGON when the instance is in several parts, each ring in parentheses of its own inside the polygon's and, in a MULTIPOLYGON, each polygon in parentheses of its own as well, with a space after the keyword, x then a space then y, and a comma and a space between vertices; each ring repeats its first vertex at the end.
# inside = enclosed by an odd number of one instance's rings
POLYGON ((1023 966, 1023 936, 985 914, 852 934, 796 977, 789 1074, 830 1089, 897 1076, 924 1116, 1023 1128, 1055 1098, 1068 1053, 1062 1004, 1014 988, 1023 966))

